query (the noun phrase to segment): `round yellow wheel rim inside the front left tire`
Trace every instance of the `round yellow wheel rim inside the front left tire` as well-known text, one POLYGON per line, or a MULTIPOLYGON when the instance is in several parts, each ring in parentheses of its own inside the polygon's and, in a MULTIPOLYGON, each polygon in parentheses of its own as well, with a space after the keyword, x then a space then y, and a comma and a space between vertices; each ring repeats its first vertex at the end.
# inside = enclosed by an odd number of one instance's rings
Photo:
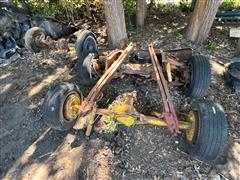
POLYGON ((79 94, 70 94, 64 103, 63 112, 67 121, 75 120, 78 116, 78 110, 81 106, 81 98, 79 94))

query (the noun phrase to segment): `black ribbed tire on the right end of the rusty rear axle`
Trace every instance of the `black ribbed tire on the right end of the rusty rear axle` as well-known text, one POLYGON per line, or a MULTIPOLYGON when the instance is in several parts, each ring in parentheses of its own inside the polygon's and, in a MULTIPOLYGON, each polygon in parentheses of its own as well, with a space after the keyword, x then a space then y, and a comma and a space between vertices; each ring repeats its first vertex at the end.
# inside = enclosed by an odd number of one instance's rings
POLYGON ((186 95, 202 97, 206 94, 211 82, 211 66, 207 57, 202 55, 192 56, 189 59, 190 83, 186 85, 186 95))

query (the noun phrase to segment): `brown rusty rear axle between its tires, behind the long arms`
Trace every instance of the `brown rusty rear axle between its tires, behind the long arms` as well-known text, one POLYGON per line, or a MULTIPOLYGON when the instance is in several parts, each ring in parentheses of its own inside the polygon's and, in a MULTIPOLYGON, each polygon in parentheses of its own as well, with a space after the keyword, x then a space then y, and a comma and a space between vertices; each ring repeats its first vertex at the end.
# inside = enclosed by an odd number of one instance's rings
MULTIPOLYGON (((110 65, 116 61, 122 50, 103 51, 102 54, 91 61, 92 75, 101 77, 110 65)), ((144 52, 144 57, 149 58, 147 51, 144 52)), ((168 82, 174 85, 185 85, 189 82, 189 67, 186 64, 187 60, 192 56, 192 49, 174 49, 168 51, 157 51, 156 54, 161 55, 163 63, 163 72, 166 73, 168 82), (181 77, 178 77, 178 76, 181 77)), ((119 78, 123 74, 137 74, 143 77, 152 77, 155 79, 154 69, 152 64, 126 63, 122 64, 112 78, 119 78)))

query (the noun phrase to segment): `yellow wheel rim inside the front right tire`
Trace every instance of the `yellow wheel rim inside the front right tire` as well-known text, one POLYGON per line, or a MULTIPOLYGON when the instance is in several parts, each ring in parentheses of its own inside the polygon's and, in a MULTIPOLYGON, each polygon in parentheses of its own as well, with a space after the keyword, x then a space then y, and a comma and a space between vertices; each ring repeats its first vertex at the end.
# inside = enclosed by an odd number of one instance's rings
POLYGON ((186 137, 187 137, 187 140, 190 142, 193 142, 193 139, 194 139, 194 135, 196 131, 196 121, 197 121, 196 118, 197 117, 195 113, 193 111, 190 111, 188 114, 187 121, 190 122, 192 125, 190 129, 186 130, 186 137))

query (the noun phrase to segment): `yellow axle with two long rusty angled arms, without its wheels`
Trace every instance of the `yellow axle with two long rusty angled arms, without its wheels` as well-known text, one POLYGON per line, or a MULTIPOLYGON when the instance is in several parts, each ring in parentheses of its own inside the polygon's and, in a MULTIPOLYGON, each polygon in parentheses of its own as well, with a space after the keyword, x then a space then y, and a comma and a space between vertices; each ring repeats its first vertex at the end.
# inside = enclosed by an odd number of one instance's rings
MULTIPOLYGON (((167 81, 163 75, 163 69, 159 64, 159 60, 157 58, 157 55, 155 53, 155 50, 152 44, 148 45, 148 51, 152 61, 151 68, 153 68, 155 72, 154 76, 157 80, 157 83, 161 92, 161 97, 164 103, 164 112, 161 114, 155 113, 155 115, 157 114, 155 117, 145 116, 134 109, 133 103, 130 103, 131 105, 129 104, 120 105, 113 111, 108 109, 96 108, 96 103, 99 100, 102 89, 107 84, 107 82, 109 82, 109 80, 114 77, 114 74, 122 65, 124 59, 126 59, 126 57, 130 54, 132 49, 133 49, 133 44, 130 43, 129 46, 124 51, 114 51, 110 53, 110 55, 108 55, 107 58, 105 58, 107 60, 106 63, 108 63, 108 65, 105 65, 105 68, 109 67, 109 65, 110 67, 105 69, 105 73, 101 76, 99 81, 90 91, 89 95, 82 102, 78 110, 78 120, 74 127, 77 129, 79 126, 78 124, 81 123, 82 118, 88 115, 89 117, 87 119, 86 135, 89 136, 95 121, 95 115, 98 114, 98 115, 108 115, 108 116, 114 117, 116 121, 126 126, 131 126, 134 124, 153 124, 157 126, 167 126, 169 127, 172 133, 178 133, 179 128, 181 129, 190 128, 192 126, 190 122, 184 122, 184 121, 181 121, 180 123, 178 122, 176 111, 175 111, 173 102, 171 100, 170 92, 168 90, 167 81)), ((169 61, 166 60, 167 58, 165 58, 165 56, 168 55, 167 57, 169 57, 169 54, 163 53, 163 52, 161 54, 162 54, 162 59, 165 59, 164 62, 167 63, 166 66, 169 66, 171 63, 175 66, 184 67, 184 64, 181 62, 175 62, 175 60, 172 60, 172 59, 170 59, 169 61)), ((102 57, 101 61, 103 60, 104 60, 104 57, 102 57)), ((170 71, 170 72, 167 72, 168 74, 171 74, 171 68, 166 68, 166 70, 170 71)), ((169 77, 169 79, 171 79, 171 77, 169 77)))

